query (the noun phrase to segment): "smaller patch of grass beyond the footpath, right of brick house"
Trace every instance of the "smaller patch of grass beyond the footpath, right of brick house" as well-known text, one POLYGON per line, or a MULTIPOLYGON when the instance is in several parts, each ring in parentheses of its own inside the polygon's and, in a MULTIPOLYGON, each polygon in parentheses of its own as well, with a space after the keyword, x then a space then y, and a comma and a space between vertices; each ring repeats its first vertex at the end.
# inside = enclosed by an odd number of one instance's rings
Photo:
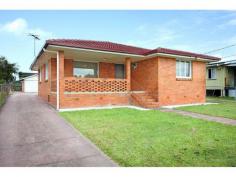
POLYGON ((209 97, 207 98, 207 102, 213 102, 219 104, 186 106, 186 107, 179 107, 177 109, 183 111, 207 114, 212 116, 220 116, 220 117, 236 119, 236 100, 232 98, 209 97))

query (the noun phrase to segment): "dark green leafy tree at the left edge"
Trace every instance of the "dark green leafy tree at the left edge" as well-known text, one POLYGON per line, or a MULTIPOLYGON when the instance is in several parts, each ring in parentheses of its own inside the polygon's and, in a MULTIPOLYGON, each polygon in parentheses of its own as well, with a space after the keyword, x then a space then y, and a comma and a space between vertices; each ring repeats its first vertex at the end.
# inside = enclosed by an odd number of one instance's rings
POLYGON ((0 56, 0 83, 10 83, 15 81, 18 67, 15 63, 9 63, 4 56, 0 56))

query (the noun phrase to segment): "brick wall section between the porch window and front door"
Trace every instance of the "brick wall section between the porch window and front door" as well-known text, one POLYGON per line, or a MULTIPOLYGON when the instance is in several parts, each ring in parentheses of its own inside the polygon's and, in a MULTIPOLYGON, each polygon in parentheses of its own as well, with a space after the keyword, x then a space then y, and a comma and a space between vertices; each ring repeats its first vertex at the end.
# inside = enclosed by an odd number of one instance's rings
POLYGON ((115 64, 114 63, 99 63, 99 77, 100 78, 115 78, 115 64))

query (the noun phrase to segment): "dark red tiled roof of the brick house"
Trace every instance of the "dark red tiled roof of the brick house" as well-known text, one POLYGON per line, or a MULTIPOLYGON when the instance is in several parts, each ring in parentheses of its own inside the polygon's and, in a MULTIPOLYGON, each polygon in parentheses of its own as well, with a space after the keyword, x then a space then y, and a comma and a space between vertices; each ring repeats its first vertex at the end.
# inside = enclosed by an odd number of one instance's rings
POLYGON ((188 57, 199 57, 210 60, 220 60, 218 57, 197 54, 192 52, 186 52, 181 50, 172 50, 167 48, 157 48, 154 50, 145 49, 140 47, 134 47, 124 44, 118 44, 107 41, 92 41, 92 40, 77 40, 77 39, 50 39, 46 41, 46 45, 58 45, 58 46, 66 46, 66 47, 75 47, 82 49, 92 49, 92 50, 101 50, 101 51, 109 51, 109 52, 119 52, 119 53, 127 53, 127 54, 136 54, 148 56, 150 54, 162 53, 162 54, 171 54, 171 55, 181 55, 188 57))

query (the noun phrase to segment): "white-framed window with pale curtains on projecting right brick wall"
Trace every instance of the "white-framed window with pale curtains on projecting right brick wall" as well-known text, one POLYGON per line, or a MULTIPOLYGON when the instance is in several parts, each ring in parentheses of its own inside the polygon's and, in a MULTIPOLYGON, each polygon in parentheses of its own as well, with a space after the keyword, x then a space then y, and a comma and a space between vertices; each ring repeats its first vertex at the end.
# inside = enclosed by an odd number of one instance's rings
POLYGON ((191 78, 191 61, 176 60, 176 77, 191 78))

